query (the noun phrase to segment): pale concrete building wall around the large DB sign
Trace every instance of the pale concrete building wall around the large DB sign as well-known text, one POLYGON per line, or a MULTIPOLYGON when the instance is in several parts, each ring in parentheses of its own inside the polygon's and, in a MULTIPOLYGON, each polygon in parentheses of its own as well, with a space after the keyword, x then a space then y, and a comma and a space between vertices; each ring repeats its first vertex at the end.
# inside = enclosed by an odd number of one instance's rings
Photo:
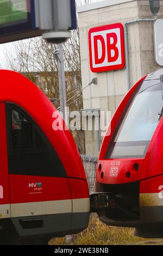
MULTIPOLYGON (((124 23, 140 17, 152 17, 152 13, 149 9, 148 0, 111 0, 111 2, 112 5, 109 5, 108 1, 102 1, 101 3, 105 5, 102 8, 97 8, 97 4, 90 4, 90 10, 81 11, 82 9, 79 8, 78 15, 83 87, 93 77, 98 78, 97 85, 92 85, 83 90, 84 109, 99 108, 101 111, 111 111, 112 115, 128 90, 126 68, 97 74, 91 72, 88 46, 89 29, 116 22, 124 23), (107 3, 109 6, 107 6, 107 3)), ((160 2, 159 17, 162 17, 163 1, 160 2)), ((128 41, 130 81, 131 84, 134 84, 142 76, 160 68, 154 60, 153 23, 141 22, 129 25, 128 41)), ((92 132, 92 135, 90 135, 90 131, 85 132, 85 138, 86 154, 98 155, 94 132, 92 132)))

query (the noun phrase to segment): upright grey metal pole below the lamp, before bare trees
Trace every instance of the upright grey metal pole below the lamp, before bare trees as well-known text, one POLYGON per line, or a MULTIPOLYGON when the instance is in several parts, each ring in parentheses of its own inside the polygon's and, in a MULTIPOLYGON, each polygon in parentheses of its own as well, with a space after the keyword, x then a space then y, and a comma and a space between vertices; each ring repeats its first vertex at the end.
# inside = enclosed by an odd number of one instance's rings
POLYGON ((64 69, 64 51, 62 44, 58 44, 58 79, 59 79, 59 100, 60 111, 65 119, 66 108, 66 87, 65 87, 65 69, 64 69))

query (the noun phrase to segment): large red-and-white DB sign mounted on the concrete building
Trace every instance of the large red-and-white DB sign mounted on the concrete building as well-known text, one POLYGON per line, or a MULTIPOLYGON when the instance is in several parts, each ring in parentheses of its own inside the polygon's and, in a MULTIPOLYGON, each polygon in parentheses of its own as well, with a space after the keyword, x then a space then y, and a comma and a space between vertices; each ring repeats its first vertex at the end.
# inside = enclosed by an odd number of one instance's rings
POLYGON ((117 23, 91 28, 89 50, 92 72, 123 69, 125 66, 123 25, 117 23))

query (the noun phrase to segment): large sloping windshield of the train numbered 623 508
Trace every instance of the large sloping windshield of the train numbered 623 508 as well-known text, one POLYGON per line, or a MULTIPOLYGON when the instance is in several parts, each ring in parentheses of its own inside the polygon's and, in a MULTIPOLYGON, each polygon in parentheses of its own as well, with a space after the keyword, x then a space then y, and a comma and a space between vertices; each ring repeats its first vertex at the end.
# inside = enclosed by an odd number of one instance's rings
POLYGON ((105 159, 145 156, 163 107, 163 84, 151 82, 144 81, 133 96, 109 144, 105 159))

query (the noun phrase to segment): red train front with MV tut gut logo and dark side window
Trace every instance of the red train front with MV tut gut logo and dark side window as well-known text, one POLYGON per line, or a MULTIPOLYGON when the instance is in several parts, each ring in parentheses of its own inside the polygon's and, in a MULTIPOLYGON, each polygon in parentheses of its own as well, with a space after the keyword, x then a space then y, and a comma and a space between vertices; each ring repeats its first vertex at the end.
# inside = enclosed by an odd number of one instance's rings
POLYGON ((89 189, 70 131, 52 129, 57 110, 26 77, 0 76, 0 243, 82 231, 89 189))

